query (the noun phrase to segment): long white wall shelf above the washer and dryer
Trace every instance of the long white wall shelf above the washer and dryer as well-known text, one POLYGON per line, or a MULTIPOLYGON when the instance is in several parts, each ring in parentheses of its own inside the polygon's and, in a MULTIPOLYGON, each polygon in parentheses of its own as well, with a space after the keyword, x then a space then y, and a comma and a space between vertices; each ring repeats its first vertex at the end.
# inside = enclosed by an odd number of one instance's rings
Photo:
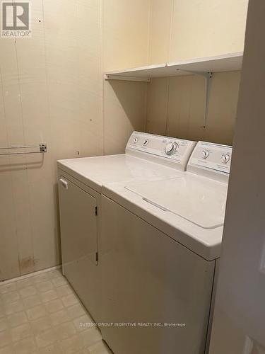
POLYGON ((155 77, 232 72, 242 67, 242 52, 204 57, 179 62, 148 65, 133 69, 113 70, 105 73, 106 80, 150 81, 155 77))

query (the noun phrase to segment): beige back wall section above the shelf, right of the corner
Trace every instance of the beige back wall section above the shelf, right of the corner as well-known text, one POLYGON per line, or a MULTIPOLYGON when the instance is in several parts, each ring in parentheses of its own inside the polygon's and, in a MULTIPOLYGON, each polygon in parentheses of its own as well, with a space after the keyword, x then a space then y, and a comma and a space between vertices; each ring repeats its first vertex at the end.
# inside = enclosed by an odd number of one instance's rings
POLYGON ((149 64, 243 50, 248 0, 151 0, 149 64))

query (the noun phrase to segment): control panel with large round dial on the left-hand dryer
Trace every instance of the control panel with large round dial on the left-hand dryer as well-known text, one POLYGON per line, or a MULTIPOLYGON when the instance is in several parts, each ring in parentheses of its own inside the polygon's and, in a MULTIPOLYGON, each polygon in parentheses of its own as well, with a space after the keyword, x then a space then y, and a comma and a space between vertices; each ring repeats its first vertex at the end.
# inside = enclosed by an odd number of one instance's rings
POLYGON ((175 168, 184 171, 195 145, 196 142, 185 139, 133 132, 126 145, 126 152, 141 154, 146 159, 160 159, 159 163, 164 160, 164 164, 168 163, 170 167, 174 163, 175 168))

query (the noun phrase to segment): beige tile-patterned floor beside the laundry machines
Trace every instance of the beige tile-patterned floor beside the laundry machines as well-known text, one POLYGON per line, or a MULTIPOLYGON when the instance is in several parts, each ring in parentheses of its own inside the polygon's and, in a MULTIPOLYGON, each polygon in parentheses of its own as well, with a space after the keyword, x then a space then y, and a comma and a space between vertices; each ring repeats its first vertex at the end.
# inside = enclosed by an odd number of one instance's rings
POLYGON ((109 354, 91 322, 61 270, 0 284, 0 354, 109 354))

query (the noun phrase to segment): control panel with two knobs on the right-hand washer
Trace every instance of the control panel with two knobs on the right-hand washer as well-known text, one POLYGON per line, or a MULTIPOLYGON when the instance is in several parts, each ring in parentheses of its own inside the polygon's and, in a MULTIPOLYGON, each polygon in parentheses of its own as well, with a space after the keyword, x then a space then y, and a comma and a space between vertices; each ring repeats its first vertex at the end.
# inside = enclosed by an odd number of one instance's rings
POLYGON ((228 145, 198 142, 188 166, 206 169, 213 173, 229 174, 231 157, 232 147, 228 145))

